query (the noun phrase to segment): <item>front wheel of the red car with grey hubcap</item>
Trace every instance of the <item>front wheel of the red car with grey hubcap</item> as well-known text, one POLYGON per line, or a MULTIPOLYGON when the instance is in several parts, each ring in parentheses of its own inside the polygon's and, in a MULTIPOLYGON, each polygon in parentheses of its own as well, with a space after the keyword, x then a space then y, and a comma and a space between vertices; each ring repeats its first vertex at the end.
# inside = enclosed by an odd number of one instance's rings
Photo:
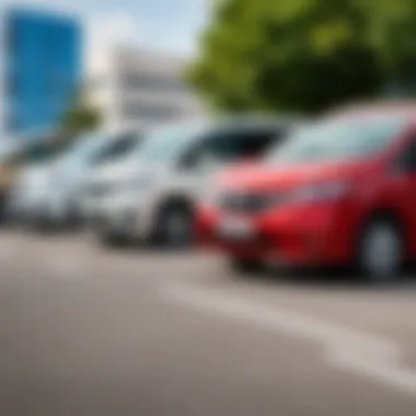
POLYGON ((359 271, 371 282, 382 284, 398 278, 405 259, 401 228, 389 218, 370 221, 358 244, 359 271))

